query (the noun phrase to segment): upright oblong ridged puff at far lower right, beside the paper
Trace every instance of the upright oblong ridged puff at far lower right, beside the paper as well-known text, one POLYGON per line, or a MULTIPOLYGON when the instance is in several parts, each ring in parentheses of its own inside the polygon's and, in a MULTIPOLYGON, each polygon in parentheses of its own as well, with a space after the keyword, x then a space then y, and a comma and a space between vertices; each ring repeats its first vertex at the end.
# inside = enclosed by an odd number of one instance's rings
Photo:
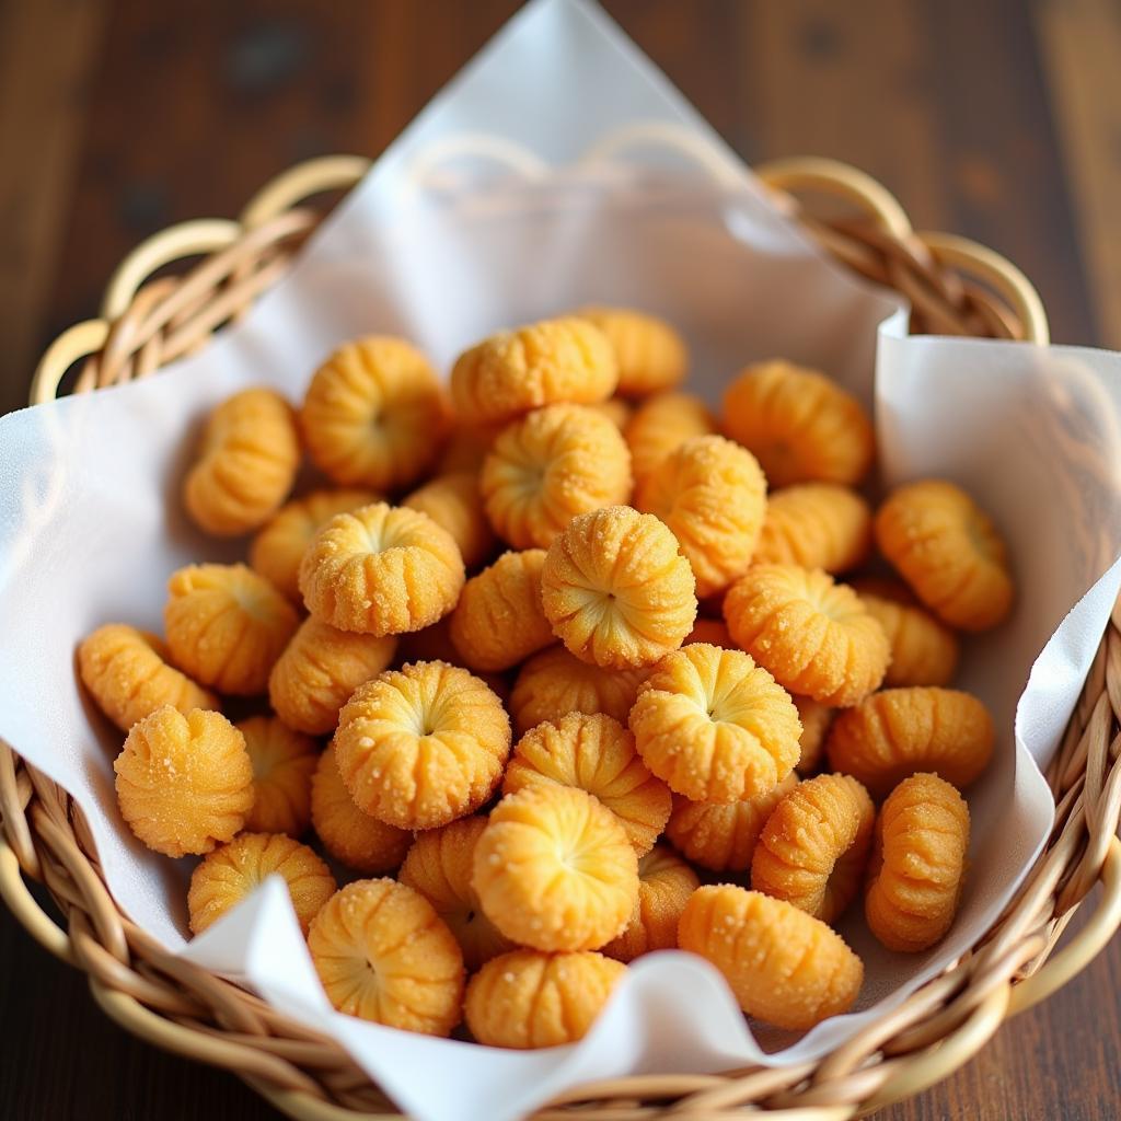
POLYGON ((864 917, 888 949, 918 953, 957 912, 970 847, 970 807, 937 775, 905 778, 876 823, 864 917))

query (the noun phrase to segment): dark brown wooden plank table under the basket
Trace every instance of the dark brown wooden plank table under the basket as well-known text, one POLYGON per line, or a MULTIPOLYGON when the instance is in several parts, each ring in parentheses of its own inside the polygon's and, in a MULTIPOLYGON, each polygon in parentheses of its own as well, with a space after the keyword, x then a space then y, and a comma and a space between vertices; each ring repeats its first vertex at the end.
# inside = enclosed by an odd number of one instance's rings
MULTIPOLYGON (((275 173, 377 154, 515 0, 0 0, 0 411, 115 262, 275 173)), ((1110 0, 610 0, 749 161, 812 152, 919 228, 1007 253, 1058 341, 1121 348, 1121 9, 1110 0)), ((0 917, 0 1117, 275 1115, 126 1036, 0 917)), ((1114 1119, 1121 943, 945 1084, 880 1114, 1114 1119)))

